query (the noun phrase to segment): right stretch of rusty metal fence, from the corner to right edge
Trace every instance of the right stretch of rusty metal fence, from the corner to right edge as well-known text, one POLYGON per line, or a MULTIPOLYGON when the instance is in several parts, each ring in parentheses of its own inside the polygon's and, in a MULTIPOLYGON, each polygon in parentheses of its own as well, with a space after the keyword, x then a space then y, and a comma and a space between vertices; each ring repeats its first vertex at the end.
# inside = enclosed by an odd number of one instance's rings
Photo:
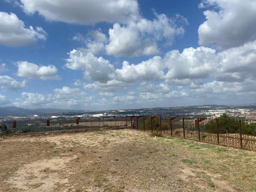
POLYGON ((140 131, 256 151, 256 120, 129 116, 140 131))

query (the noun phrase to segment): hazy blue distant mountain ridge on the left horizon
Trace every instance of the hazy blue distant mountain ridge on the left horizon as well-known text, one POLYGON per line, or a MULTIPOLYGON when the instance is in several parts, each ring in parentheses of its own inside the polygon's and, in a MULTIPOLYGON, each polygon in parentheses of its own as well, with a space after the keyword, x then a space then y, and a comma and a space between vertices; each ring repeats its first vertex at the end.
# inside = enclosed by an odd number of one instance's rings
POLYGON ((65 110, 65 109, 25 109, 16 107, 0 107, 0 116, 17 116, 17 115, 33 115, 43 113, 68 113, 68 112, 83 112, 84 110, 65 110))

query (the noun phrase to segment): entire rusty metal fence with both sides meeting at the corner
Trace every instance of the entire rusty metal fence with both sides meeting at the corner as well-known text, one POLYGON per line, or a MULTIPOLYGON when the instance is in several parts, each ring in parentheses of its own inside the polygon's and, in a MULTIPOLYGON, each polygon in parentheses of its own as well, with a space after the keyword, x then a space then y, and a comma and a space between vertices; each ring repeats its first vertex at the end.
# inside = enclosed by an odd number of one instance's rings
POLYGON ((173 116, 103 116, 0 122, 0 137, 39 136, 131 128, 205 143, 256 151, 256 120, 173 116))

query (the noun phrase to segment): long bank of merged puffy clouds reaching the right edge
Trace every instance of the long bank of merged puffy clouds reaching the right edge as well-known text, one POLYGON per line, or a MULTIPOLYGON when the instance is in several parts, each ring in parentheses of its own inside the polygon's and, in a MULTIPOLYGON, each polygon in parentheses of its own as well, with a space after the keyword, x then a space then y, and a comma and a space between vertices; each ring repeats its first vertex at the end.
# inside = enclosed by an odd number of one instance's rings
POLYGON ((66 67, 81 69, 87 74, 85 79, 93 77, 90 80, 94 81, 89 84, 77 81, 75 84, 98 92, 125 90, 140 82, 150 81, 162 81, 163 86, 169 84, 194 89, 204 84, 205 80, 241 82, 256 79, 256 41, 222 52, 208 47, 190 47, 182 52, 172 50, 163 58, 154 56, 138 64, 123 61, 122 68, 116 69, 104 58, 79 50, 72 52, 66 67), (72 52, 76 57, 72 56, 72 52), (99 73, 94 70, 96 66, 99 73))

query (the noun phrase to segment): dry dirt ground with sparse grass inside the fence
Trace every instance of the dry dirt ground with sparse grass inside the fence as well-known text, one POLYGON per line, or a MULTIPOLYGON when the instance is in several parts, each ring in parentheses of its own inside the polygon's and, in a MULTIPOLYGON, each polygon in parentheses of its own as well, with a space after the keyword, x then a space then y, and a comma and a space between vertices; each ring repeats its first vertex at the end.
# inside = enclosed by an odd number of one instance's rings
POLYGON ((256 152, 136 130, 0 140, 0 191, 256 191, 256 152))

